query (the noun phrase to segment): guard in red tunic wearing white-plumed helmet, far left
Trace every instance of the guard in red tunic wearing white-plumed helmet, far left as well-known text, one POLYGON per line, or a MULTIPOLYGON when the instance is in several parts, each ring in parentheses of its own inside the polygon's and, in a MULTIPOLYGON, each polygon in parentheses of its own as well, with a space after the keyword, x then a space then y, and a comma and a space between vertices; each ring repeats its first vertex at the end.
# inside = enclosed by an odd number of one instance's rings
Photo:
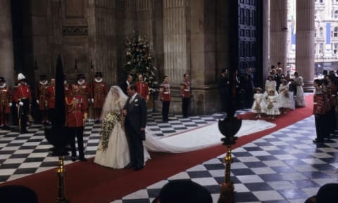
POLYGON ((28 133, 27 131, 27 114, 30 110, 30 103, 32 103, 32 91, 30 86, 27 85, 26 77, 22 74, 18 74, 18 88, 14 93, 14 101, 18 105, 18 119, 20 133, 28 133))

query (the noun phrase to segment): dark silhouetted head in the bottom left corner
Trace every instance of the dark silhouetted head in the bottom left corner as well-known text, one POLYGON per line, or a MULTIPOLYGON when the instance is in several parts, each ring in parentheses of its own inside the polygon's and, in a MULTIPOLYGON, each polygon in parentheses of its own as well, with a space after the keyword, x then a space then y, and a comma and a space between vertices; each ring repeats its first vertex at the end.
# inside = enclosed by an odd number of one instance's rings
POLYGON ((23 185, 1 186, 0 200, 6 203, 38 203, 35 191, 23 185))

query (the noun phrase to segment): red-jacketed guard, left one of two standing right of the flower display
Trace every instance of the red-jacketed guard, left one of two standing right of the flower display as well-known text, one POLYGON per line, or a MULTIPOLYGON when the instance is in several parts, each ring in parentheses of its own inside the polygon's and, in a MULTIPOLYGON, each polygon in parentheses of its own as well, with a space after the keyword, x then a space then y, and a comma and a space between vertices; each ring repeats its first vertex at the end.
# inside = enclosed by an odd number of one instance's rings
POLYGON ((158 95, 162 101, 162 118, 163 122, 168 122, 169 106, 170 106, 170 84, 168 76, 163 76, 163 83, 160 85, 160 93, 158 95))

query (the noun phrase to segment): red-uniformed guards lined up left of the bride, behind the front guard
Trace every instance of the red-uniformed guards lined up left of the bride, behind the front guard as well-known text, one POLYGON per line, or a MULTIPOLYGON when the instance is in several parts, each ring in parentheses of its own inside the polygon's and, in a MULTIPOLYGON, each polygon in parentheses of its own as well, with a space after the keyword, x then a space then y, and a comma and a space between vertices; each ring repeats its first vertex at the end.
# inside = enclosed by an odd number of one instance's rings
MULTIPOLYGON (((103 81, 101 72, 96 72, 94 81, 91 85, 84 79, 84 74, 77 75, 77 94, 82 96, 86 103, 92 105, 95 122, 99 122, 101 109, 108 93, 106 83, 103 81)), ((64 80, 65 96, 73 96, 72 86, 64 80)), ((35 99, 39 107, 39 116, 42 118, 42 124, 51 124, 54 122, 55 108, 55 79, 49 83, 46 75, 40 75, 39 83, 35 86, 35 98, 32 97, 32 90, 27 84, 26 78, 22 73, 18 74, 18 86, 14 88, 12 94, 11 88, 6 85, 4 77, 0 77, 0 127, 9 129, 8 119, 13 104, 17 107, 18 126, 20 133, 27 133, 27 115, 30 111, 32 101, 35 99)), ((88 106, 89 106, 88 105, 88 106)), ((88 109, 87 109, 88 110, 88 109)), ((86 112, 87 112, 86 110, 86 112)))

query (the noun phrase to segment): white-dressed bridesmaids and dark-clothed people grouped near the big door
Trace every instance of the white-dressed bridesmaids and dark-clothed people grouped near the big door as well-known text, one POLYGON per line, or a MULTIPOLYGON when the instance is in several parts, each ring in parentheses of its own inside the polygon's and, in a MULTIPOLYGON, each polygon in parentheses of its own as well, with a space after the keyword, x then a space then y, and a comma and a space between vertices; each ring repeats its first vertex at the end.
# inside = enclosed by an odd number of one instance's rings
MULTIPOLYGON (((303 94, 303 78, 298 72, 291 76, 282 73, 282 64, 277 63, 271 67, 264 87, 254 86, 251 67, 246 68, 242 74, 234 72, 235 86, 235 108, 248 108, 256 113, 256 118, 260 119, 263 114, 270 119, 279 114, 284 114, 295 107, 306 105, 303 94)), ((230 72, 222 70, 218 80, 220 88, 221 111, 228 112, 231 102, 230 72)))

